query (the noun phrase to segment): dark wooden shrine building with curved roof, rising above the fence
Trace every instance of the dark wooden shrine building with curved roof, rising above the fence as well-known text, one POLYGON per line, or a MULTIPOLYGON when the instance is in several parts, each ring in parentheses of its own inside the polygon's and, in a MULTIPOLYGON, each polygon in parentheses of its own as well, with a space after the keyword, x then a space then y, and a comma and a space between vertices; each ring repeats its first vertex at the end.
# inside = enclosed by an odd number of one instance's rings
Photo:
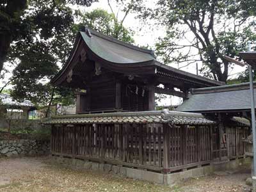
POLYGON ((159 63, 150 50, 88 28, 78 33, 52 83, 77 90, 77 113, 154 110, 155 93, 186 99, 189 88, 223 84, 159 63))

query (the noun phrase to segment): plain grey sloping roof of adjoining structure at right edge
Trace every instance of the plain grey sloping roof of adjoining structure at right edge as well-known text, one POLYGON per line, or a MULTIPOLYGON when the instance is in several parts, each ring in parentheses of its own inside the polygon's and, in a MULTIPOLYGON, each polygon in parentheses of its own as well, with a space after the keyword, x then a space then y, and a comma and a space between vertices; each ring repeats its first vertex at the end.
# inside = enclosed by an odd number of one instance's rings
POLYGON ((176 110, 200 113, 250 110, 250 99, 249 83, 196 88, 191 89, 189 99, 184 100, 176 110))

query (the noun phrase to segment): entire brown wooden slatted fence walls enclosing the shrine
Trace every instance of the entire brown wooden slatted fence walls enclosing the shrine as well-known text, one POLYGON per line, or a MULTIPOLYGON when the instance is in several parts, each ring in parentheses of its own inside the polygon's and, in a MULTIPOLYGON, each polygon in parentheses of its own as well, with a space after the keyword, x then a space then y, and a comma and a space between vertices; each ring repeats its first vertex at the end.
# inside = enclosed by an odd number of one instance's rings
MULTIPOLYGON (((242 138, 250 134, 249 130, 247 127, 226 128, 226 156, 244 154, 242 138)), ((216 127, 210 125, 61 125, 52 127, 51 149, 52 154, 99 159, 148 170, 165 166, 171 170, 219 157, 217 138, 216 127)))

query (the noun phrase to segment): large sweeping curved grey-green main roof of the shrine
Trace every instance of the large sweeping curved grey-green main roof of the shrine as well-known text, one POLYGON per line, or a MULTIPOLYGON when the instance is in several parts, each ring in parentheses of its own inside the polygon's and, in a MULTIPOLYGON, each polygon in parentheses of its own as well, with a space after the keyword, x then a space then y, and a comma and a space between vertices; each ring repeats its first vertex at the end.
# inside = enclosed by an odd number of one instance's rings
POLYGON ((152 74, 152 76, 163 77, 168 82, 187 83, 189 88, 225 84, 159 63, 153 51, 127 44, 89 28, 85 28, 84 31, 77 34, 74 48, 67 63, 52 79, 52 83, 61 84, 79 60, 77 54, 79 55, 82 49, 86 52, 86 58, 97 61, 102 67, 122 74, 152 74))

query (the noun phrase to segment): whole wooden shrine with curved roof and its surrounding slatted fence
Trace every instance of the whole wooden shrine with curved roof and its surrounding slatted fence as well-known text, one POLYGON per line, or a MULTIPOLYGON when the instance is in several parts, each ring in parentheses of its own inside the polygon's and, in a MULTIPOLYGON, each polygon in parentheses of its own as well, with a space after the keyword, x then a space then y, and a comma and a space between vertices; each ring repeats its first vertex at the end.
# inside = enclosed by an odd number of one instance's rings
POLYGON ((154 111, 155 93, 186 100, 191 88, 223 83, 159 63, 150 50, 85 28, 52 83, 77 94, 76 115, 43 122, 52 125, 52 156, 68 164, 78 159, 79 166, 115 168, 125 177, 172 184, 173 172, 198 168, 206 174, 216 161, 245 157, 243 138, 250 125, 243 118, 154 111))

